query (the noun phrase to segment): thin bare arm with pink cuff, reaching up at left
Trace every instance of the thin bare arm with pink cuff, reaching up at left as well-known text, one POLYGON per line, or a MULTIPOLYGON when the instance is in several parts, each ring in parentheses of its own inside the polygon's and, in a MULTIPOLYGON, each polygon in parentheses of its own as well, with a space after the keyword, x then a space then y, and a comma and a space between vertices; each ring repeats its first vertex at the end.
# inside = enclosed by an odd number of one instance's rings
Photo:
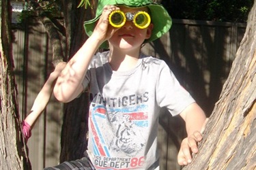
POLYGON ((31 129, 35 124, 35 121, 39 118, 39 116, 44 111, 48 101, 51 98, 51 94, 53 93, 53 86, 55 85, 55 80, 58 78, 59 73, 61 73, 62 69, 66 66, 65 62, 60 62, 55 67, 55 70, 49 75, 48 80, 45 82, 44 86, 38 93, 38 96, 35 98, 33 102, 33 106, 29 115, 23 120, 23 135, 25 137, 25 142, 29 137, 31 137, 31 129))

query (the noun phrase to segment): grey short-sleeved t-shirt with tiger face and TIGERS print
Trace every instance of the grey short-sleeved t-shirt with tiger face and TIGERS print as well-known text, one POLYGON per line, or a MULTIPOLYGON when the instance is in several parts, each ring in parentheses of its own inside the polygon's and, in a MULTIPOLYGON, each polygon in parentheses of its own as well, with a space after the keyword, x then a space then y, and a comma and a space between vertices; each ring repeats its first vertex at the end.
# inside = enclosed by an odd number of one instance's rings
POLYGON ((141 54, 130 71, 113 71, 109 52, 96 54, 89 86, 88 154, 96 169, 155 169, 161 107, 176 116, 194 103, 165 61, 141 54))

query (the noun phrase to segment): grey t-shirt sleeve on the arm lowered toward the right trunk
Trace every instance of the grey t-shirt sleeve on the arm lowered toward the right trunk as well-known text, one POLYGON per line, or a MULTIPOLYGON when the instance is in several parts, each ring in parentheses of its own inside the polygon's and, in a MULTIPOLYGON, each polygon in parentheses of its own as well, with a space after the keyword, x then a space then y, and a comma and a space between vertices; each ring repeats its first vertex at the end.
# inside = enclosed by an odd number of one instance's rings
POLYGON ((188 105, 195 102, 164 61, 160 65, 156 83, 156 101, 160 107, 167 107, 172 116, 180 114, 188 105))

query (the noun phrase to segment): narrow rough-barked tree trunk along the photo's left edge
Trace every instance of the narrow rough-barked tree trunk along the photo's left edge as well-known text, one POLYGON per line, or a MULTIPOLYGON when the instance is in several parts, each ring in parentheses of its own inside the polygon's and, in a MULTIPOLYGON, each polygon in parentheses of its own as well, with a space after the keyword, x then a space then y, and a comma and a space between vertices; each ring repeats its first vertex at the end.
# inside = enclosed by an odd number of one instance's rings
POLYGON ((0 167, 31 169, 18 114, 13 74, 10 1, 0 1, 0 167))

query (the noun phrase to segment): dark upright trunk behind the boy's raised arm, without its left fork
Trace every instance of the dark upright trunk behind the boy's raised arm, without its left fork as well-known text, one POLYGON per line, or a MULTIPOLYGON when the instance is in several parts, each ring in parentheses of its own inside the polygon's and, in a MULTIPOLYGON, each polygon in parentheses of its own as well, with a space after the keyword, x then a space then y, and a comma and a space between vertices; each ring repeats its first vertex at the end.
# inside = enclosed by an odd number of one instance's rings
MULTIPOLYGON (((67 55, 72 57, 77 50, 83 45, 87 36, 83 22, 89 20, 92 15, 90 7, 87 10, 84 7, 77 9, 80 0, 67 1, 64 9, 64 20, 66 23, 67 55), (65 15, 69 14, 69 15, 65 15), (71 14, 71 15, 70 15, 71 14)), ((96 7, 96 1, 91 1, 91 7, 96 7)), ((83 157, 83 152, 87 148, 86 134, 88 131, 88 94, 83 93, 81 97, 74 99, 64 105, 64 117, 61 128, 61 155, 60 163, 66 160, 76 160, 83 157)))

